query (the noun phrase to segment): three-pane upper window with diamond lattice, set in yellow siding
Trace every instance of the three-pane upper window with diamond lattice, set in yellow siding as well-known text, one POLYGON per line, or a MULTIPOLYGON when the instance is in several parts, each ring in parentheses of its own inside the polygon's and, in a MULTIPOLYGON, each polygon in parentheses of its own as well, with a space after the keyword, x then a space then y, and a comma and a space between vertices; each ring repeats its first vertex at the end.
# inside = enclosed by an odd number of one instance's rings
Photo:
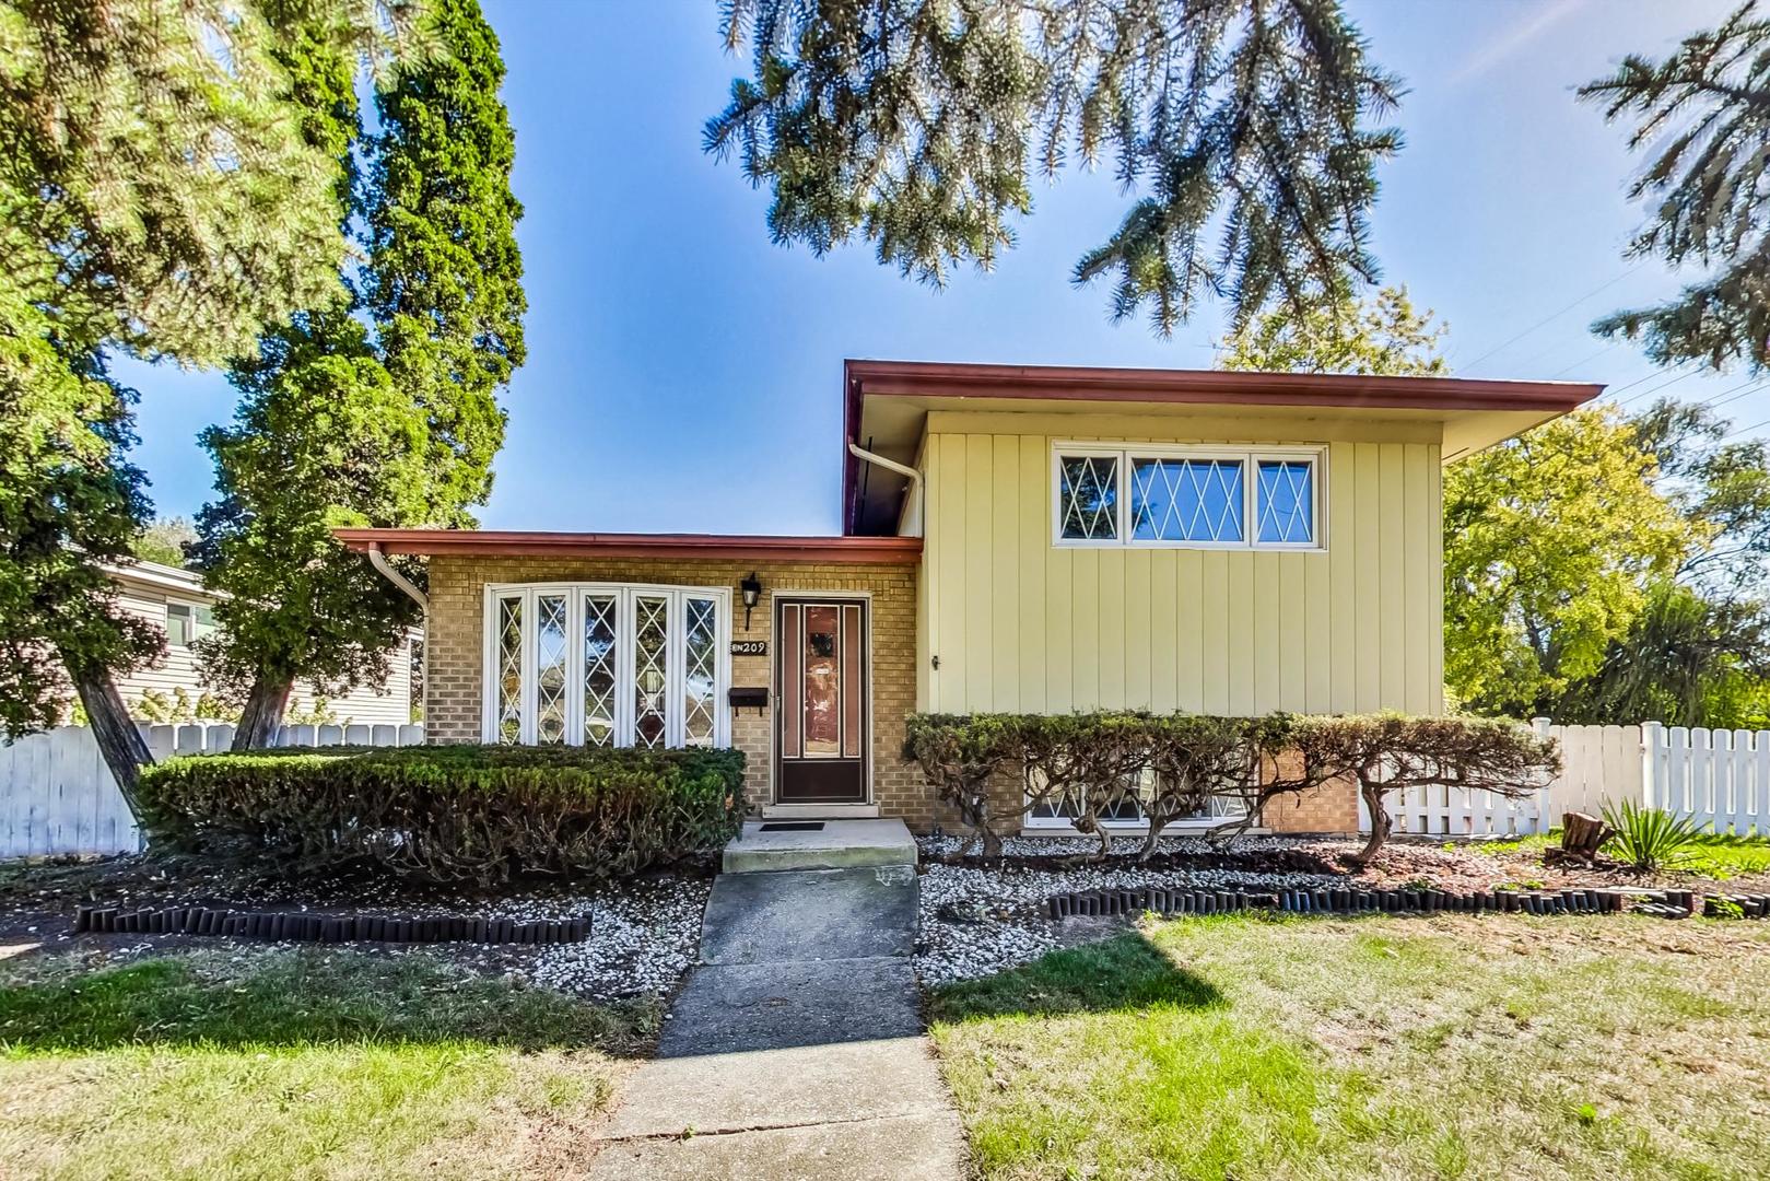
POLYGON ((1319 448, 1058 444, 1057 545, 1322 549, 1319 448))

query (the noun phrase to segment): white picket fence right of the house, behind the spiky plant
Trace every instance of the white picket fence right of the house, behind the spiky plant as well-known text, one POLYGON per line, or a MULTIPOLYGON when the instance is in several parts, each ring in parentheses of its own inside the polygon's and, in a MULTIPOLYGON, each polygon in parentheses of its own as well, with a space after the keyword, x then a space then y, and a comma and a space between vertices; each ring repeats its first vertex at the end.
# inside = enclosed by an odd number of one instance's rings
MULTIPOLYGON (((1687 816, 1705 832, 1770 836, 1770 729, 1685 726, 1554 726, 1561 774, 1535 795, 1506 799, 1464 788, 1414 788, 1389 799, 1397 832, 1528 836, 1565 813, 1600 814, 1628 800, 1687 816)), ((1359 820, 1368 827, 1363 806, 1359 820)))

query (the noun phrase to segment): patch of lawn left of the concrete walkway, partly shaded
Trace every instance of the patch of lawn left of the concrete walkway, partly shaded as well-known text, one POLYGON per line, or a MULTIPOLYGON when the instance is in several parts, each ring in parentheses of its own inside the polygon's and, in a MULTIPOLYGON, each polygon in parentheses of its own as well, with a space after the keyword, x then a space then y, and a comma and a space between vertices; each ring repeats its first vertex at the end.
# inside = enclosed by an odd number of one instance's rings
POLYGON ((657 1023, 430 956, 234 954, 0 963, 0 1176, 570 1170, 657 1023))

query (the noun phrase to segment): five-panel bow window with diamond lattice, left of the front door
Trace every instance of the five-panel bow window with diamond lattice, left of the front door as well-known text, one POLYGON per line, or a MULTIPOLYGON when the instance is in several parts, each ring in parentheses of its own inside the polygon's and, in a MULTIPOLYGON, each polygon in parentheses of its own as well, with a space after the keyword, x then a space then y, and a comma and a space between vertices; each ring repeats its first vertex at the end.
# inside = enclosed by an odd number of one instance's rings
POLYGON ((487 742, 729 744, 731 591, 492 586, 485 618, 487 742))

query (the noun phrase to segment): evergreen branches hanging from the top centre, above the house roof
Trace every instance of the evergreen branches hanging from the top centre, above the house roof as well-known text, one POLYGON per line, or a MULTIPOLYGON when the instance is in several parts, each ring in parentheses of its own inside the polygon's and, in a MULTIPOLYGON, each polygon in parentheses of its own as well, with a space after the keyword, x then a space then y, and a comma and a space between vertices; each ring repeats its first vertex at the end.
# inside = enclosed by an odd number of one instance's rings
POLYGON ((754 74, 704 143, 770 186, 777 243, 857 234, 943 283, 989 267, 1032 211, 1028 170, 1115 156, 1140 193, 1076 264, 1158 333, 1204 294, 1234 322, 1375 278, 1375 127, 1400 87, 1333 0, 726 0, 754 74))

